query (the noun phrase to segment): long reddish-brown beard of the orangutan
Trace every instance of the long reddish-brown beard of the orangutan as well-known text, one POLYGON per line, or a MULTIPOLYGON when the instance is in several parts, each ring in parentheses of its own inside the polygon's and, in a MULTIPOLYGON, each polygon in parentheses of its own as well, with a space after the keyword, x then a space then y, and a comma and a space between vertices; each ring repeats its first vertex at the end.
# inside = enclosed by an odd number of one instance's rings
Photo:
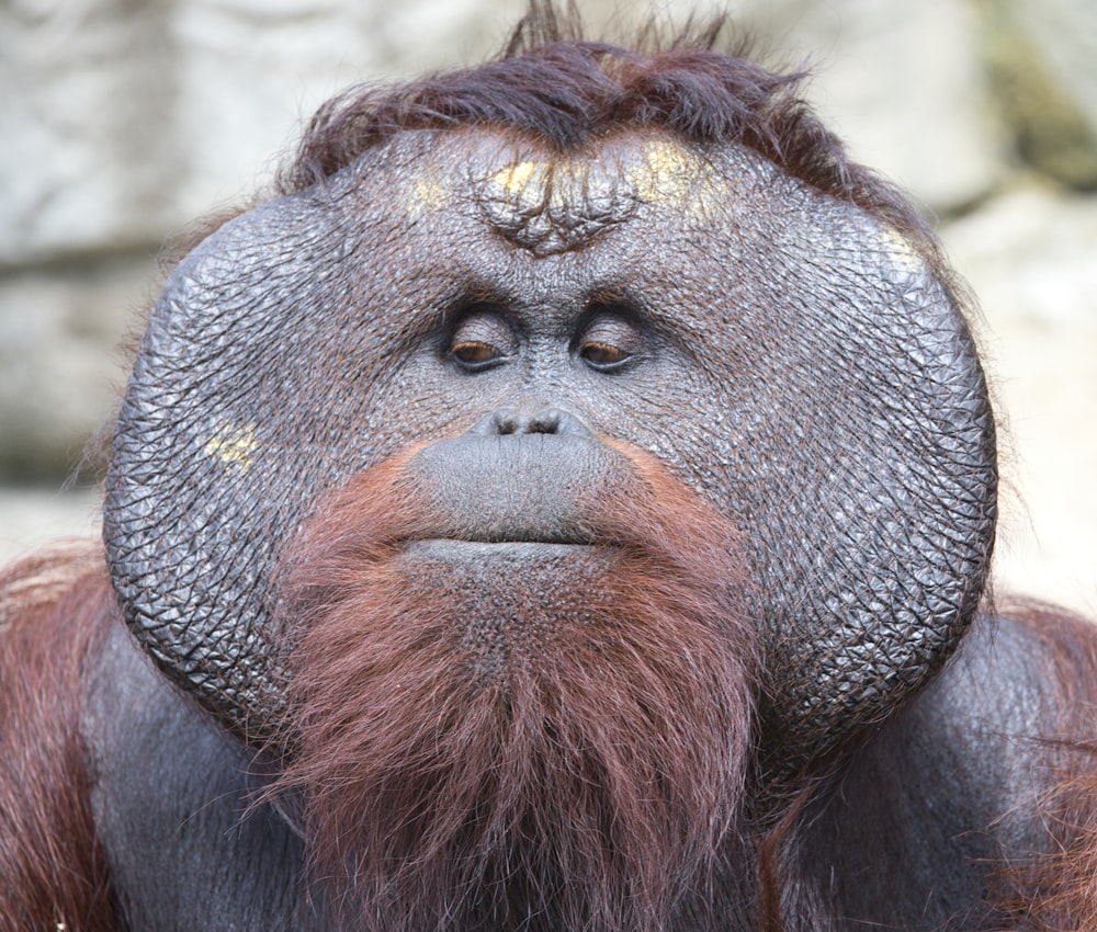
POLYGON ((287 561, 276 789, 304 800, 314 891, 348 929, 668 928, 743 797, 736 532, 627 452, 620 493, 581 503, 589 546, 439 542, 407 461, 352 479, 287 561))

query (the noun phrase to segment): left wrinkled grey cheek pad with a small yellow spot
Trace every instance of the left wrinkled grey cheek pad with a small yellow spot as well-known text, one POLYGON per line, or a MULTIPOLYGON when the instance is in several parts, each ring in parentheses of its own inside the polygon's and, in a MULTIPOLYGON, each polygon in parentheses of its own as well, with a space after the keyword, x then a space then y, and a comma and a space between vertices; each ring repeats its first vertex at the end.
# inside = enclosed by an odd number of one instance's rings
POLYGON ((149 319, 108 475, 104 536, 128 624, 249 737, 281 705, 284 647, 264 612, 278 548, 372 455, 369 430, 340 429, 369 421, 362 395, 316 391, 340 377, 324 372, 338 357, 339 283, 318 270, 347 243, 323 209, 307 195, 270 202, 184 260, 149 319))

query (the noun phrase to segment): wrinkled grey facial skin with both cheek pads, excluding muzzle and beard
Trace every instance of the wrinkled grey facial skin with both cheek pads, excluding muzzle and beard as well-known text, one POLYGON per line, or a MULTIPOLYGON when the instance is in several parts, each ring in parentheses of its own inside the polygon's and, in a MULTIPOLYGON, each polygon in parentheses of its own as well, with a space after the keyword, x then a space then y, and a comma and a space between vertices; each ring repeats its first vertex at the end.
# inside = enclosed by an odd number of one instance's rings
POLYGON ((109 558, 147 649, 241 734, 281 705, 268 583, 310 505, 500 410, 649 451, 736 521, 787 757, 954 647, 995 486, 960 314, 861 211, 748 150, 651 140, 600 144, 548 196, 536 147, 402 134, 236 220, 168 284, 114 443, 109 558), (626 365, 588 365, 590 339, 626 365), (454 340, 504 361, 471 372, 454 340))

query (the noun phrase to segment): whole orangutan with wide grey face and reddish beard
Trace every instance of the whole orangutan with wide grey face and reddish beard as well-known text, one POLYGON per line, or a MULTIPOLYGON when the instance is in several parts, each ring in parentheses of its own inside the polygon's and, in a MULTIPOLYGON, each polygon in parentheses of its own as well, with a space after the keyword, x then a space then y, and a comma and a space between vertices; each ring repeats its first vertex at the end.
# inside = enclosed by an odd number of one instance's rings
POLYGON ((0 930, 1097 928, 974 299, 723 25, 533 2, 176 249, 0 572, 0 930))

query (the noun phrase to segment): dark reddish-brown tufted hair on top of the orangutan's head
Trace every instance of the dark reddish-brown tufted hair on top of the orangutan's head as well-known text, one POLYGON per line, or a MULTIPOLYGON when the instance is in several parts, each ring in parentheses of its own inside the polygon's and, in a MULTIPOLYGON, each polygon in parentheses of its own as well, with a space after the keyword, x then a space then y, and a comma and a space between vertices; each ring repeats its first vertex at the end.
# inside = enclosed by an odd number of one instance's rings
POLYGON ((937 248, 911 204, 847 158, 841 141, 802 96, 805 72, 779 73, 715 50, 724 19, 663 38, 653 23, 627 47, 583 37, 578 14, 533 2, 504 53, 474 68, 406 83, 363 84, 314 115, 281 193, 302 191, 406 129, 510 128, 559 150, 626 128, 669 130, 703 147, 736 143, 785 173, 851 201, 909 238, 937 248))

